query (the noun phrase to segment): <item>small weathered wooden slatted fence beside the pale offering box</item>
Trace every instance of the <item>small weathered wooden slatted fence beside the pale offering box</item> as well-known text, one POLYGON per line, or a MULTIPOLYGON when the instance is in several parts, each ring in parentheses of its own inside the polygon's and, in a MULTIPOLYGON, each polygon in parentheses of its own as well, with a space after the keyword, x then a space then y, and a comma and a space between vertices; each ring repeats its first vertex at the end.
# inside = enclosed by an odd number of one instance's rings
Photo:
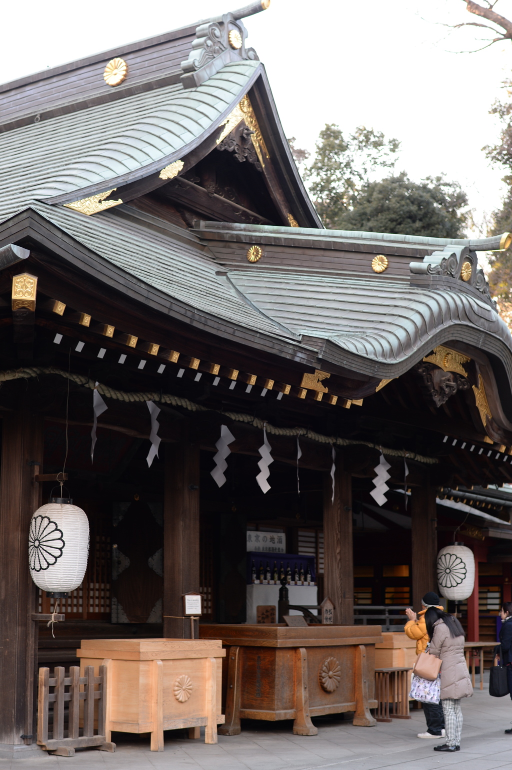
POLYGON ((67 677, 65 669, 57 666, 53 677, 50 677, 49 668, 39 669, 38 745, 47 752, 71 757, 75 754, 75 748, 88 746, 94 746, 104 752, 115 752, 115 743, 105 739, 107 667, 105 665, 99 667, 99 676, 95 676, 94 666, 86 666, 84 673, 85 676, 81 677, 80 668, 71 666, 67 677), (81 689, 82 686, 83 689, 81 689), (50 692, 52 688, 53 692, 50 692), (66 688, 69 688, 68 691, 66 688), (96 735, 95 701, 98 703, 96 735), (66 703, 69 704, 67 730, 65 730, 66 703), (81 704, 83 704, 82 708, 80 708, 81 704), (50 715, 53 717, 51 738, 48 737, 50 715), (82 728, 80 721, 83 723, 82 728))

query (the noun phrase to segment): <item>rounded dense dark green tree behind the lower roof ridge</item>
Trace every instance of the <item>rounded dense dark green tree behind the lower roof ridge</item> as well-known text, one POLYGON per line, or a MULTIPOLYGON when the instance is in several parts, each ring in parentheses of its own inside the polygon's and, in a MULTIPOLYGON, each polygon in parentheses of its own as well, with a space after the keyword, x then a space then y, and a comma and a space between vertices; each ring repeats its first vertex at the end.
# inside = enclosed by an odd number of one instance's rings
POLYGON ((460 238, 467 223, 467 195, 443 176, 412 182, 402 172, 367 182, 353 208, 340 217, 340 229, 460 238))

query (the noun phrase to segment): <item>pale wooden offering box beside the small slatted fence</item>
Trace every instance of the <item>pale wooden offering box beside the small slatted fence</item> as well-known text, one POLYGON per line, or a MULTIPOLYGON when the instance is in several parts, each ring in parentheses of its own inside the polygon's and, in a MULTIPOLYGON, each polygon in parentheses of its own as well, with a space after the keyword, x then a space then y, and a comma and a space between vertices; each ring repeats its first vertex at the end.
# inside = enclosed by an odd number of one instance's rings
MULTIPOLYGON (((112 730, 151 732, 151 751, 164 751, 164 730, 205 726, 217 743, 221 661, 214 639, 82 639, 80 669, 108 667, 106 738, 112 730)), ((83 674, 81 674, 83 676, 83 674)))

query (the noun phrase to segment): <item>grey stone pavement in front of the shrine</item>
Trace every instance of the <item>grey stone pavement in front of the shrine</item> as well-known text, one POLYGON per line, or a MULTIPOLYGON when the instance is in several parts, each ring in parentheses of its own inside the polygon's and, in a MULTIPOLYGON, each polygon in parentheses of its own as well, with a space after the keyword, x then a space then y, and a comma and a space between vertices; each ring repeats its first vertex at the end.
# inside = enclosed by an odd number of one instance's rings
MULTIPOLYGON (((486 676, 487 679, 487 676, 486 676)), ((510 698, 490 698, 475 689, 462 701, 464 729, 460 752, 434 752, 435 740, 416 737, 424 731, 423 711, 410 720, 354 727, 351 721, 314 719, 318 735, 293 735, 291 722, 242 723, 241 735, 219 736, 218 745, 184 738, 181 731, 165 734, 165 751, 149 751, 148 738, 117 733, 115 754, 85 749, 75 757, 0 760, 0 770, 494 770, 512 765, 512 735, 504 729, 512 721, 510 698)))

